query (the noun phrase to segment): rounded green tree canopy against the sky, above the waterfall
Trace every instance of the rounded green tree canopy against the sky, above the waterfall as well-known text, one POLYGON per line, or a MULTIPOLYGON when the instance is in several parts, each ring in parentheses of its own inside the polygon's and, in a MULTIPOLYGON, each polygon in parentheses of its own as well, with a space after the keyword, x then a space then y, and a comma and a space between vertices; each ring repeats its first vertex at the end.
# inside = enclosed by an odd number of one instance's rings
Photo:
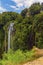
POLYGON ((19 14, 15 12, 3 12, 0 14, 0 24, 6 25, 7 22, 15 20, 17 15, 19 14))

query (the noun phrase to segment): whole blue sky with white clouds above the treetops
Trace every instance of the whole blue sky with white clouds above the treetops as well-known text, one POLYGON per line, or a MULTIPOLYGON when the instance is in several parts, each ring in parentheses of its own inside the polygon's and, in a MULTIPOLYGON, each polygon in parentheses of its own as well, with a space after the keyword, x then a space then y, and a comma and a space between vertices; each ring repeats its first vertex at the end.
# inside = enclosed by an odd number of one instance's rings
POLYGON ((24 8, 29 8, 34 2, 43 2, 43 0, 0 0, 0 13, 13 11, 20 13, 24 8))

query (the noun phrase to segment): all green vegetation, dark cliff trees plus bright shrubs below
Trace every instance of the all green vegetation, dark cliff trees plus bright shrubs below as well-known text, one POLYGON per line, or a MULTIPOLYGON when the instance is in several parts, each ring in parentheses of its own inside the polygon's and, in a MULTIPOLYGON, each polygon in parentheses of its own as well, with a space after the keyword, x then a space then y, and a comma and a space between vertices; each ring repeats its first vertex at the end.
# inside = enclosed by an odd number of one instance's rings
POLYGON ((43 4, 34 3, 30 8, 22 10, 20 14, 0 13, 0 58, 4 58, 0 65, 31 60, 34 51, 30 50, 33 46, 43 48, 43 4), (14 30, 11 33, 13 51, 4 53, 8 51, 8 27, 12 22, 14 23, 14 30))

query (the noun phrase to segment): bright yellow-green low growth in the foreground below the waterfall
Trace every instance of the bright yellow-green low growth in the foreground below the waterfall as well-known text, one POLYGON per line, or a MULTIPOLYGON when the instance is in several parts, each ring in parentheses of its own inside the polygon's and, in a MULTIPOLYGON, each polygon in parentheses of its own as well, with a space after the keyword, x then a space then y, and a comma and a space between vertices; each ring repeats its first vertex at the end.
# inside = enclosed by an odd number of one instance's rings
POLYGON ((35 51, 33 49, 26 52, 23 52, 20 49, 16 52, 10 50, 8 53, 3 54, 3 59, 0 61, 0 65, 19 65, 35 59, 34 54, 35 51))

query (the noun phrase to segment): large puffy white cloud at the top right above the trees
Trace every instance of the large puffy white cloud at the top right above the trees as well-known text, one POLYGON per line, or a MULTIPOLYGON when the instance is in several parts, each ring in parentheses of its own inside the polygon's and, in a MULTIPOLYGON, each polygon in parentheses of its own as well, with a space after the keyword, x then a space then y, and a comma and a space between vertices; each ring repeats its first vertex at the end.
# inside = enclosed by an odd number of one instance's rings
POLYGON ((24 8, 28 8, 33 4, 34 2, 43 2, 43 0, 12 0, 13 2, 16 3, 16 6, 21 8, 24 6, 24 8))

